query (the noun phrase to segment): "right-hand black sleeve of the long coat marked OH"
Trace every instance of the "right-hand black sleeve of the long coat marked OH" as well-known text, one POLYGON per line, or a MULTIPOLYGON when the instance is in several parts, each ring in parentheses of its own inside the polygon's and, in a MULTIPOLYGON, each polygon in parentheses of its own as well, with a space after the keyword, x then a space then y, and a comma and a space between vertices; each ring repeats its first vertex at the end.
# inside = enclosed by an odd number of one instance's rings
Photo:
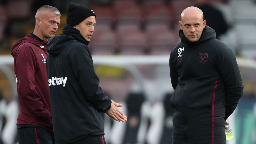
POLYGON ((225 44, 221 44, 218 50, 218 71, 226 87, 225 120, 227 120, 242 97, 244 86, 235 55, 225 44))

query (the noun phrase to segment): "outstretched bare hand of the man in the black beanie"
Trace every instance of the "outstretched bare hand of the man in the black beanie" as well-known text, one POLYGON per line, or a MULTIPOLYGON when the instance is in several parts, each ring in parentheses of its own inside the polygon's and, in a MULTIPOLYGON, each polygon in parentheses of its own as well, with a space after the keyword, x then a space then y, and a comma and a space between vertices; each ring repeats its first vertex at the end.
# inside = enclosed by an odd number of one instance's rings
POLYGON ((127 121, 127 116, 124 115, 117 107, 122 107, 122 104, 116 103, 112 100, 111 107, 106 111, 106 114, 116 121, 127 121))

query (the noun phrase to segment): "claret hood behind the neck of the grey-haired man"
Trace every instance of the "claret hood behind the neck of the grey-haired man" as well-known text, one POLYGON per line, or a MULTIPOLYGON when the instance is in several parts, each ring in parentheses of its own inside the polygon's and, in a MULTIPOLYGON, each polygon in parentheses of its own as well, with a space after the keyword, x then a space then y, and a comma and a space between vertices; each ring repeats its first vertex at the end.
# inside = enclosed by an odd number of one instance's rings
POLYGON ((23 39, 18 40, 16 43, 14 43, 12 45, 11 54, 13 57, 16 56, 19 46, 26 42, 32 43, 40 48, 45 48, 45 45, 47 44, 47 41, 40 42, 40 41, 36 40, 31 34, 28 34, 23 39))

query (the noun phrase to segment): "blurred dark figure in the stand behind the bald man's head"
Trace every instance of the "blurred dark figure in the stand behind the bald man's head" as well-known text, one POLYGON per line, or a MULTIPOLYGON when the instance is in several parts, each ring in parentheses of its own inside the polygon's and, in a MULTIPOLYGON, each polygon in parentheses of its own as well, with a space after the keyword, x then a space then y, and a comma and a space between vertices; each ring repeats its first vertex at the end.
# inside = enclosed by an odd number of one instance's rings
POLYGON ((196 7, 203 11, 207 25, 215 30, 217 39, 227 32, 228 24, 222 12, 211 4, 210 0, 195 0, 195 3, 196 7))

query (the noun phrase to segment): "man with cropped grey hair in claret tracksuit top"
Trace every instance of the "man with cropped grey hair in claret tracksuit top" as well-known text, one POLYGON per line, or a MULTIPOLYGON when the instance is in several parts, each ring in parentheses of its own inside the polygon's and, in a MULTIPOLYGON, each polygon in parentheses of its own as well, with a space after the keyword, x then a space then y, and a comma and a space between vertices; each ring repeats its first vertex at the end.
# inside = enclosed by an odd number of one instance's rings
POLYGON ((11 47, 14 57, 19 114, 20 144, 54 143, 49 86, 46 73, 46 44, 60 24, 57 8, 43 5, 35 15, 34 32, 11 47))

